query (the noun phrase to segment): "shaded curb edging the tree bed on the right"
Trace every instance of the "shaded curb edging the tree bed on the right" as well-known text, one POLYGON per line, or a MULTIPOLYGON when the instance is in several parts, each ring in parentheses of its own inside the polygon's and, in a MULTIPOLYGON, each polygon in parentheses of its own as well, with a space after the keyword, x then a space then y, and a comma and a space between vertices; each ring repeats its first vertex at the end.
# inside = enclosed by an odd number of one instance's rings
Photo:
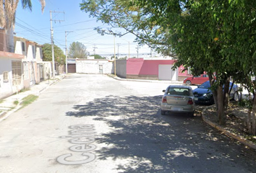
POLYGON ((208 123, 208 125, 212 126, 213 128, 216 128, 217 130, 225 133, 227 136, 230 136, 231 138, 236 139, 237 141, 243 143, 245 146, 249 146, 249 148, 253 148, 256 150, 256 144, 252 143, 251 141, 247 140, 246 138, 243 138, 242 136, 236 135, 235 133, 231 133, 229 130, 226 130, 225 128, 221 127, 221 125, 218 125, 216 123, 211 122, 208 118, 205 117, 205 110, 207 110, 208 107, 202 110, 201 116, 202 120, 205 121, 205 123, 208 123))

